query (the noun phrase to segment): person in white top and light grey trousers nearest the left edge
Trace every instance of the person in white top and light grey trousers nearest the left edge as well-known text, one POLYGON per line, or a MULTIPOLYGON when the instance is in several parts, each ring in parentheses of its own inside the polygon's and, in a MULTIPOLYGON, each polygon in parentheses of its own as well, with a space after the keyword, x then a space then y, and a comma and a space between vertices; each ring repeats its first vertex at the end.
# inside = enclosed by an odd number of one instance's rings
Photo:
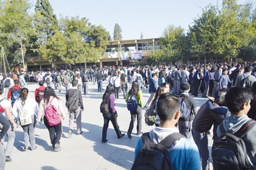
MULTIPOLYGON (((17 80, 19 81, 19 80, 17 80)), ((15 132, 17 128, 16 122, 14 122, 14 119, 11 114, 11 105, 10 102, 4 99, 4 87, 0 86, 0 104, 4 108, 4 116, 9 120, 11 126, 7 130, 6 136, 7 136, 7 145, 6 145, 6 161, 12 161, 12 150, 15 140, 15 132)))

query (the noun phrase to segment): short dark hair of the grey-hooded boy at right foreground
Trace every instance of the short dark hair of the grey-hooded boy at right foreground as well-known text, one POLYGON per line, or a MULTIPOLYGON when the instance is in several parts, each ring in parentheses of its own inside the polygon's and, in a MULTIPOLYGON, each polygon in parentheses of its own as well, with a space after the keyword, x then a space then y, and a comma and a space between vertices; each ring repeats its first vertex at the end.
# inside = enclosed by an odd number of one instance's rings
POLYGON ((225 95, 225 105, 231 113, 237 113, 243 104, 249 103, 252 97, 250 91, 241 87, 232 87, 225 95))

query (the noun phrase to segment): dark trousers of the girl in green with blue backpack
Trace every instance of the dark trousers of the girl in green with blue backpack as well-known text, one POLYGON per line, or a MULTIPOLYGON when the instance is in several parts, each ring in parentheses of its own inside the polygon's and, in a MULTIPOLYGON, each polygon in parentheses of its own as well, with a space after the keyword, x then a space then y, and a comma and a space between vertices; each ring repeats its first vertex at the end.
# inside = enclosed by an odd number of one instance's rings
POLYGON ((142 129, 142 108, 140 107, 140 105, 138 105, 136 112, 130 112, 130 125, 127 132, 129 134, 131 134, 132 130, 134 129, 134 123, 135 123, 136 117, 137 117, 137 133, 138 132, 140 133, 142 129))

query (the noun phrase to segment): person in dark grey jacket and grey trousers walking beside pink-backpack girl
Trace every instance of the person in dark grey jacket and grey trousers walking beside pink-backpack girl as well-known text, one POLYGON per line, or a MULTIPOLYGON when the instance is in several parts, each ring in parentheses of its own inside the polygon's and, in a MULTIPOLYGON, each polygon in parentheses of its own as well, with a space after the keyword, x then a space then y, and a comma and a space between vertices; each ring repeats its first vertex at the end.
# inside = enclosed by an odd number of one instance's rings
POLYGON ((83 97, 80 90, 78 90, 78 80, 74 79, 72 81, 72 86, 68 91, 66 91, 66 107, 70 114, 70 123, 68 130, 68 137, 72 136, 74 121, 76 119, 76 131, 77 134, 83 133, 82 122, 81 122, 81 112, 83 111, 83 97))

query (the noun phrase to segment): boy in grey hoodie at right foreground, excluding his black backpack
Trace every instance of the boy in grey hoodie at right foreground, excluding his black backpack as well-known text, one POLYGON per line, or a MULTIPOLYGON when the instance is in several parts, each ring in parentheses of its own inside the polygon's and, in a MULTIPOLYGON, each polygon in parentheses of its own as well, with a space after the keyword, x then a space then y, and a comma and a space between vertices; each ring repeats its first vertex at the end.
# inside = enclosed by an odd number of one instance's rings
MULTIPOLYGON (((250 101, 252 95, 249 91, 241 87, 232 87, 227 91, 225 96, 225 103, 227 108, 230 110, 231 115, 223 120, 222 125, 224 132, 234 134, 237 132, 250 118, 247 116, 250 110, 250 101)), ((217 136, 221 136, 221 130, 217 127, 217 136)), ((252 128, 242 138, 244 140, 247 154, 252 161, 254 169, 256 168, 256 128, 252 128)))

